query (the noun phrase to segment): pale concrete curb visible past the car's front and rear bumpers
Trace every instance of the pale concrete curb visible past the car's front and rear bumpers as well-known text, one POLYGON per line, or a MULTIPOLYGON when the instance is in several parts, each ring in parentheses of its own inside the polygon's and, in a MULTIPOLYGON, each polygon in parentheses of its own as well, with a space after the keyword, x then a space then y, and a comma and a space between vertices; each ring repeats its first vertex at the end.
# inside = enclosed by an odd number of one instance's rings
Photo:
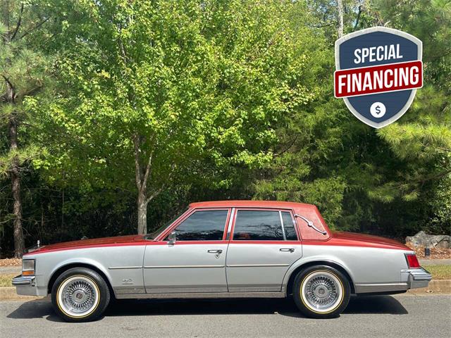
MULTIPOLYGON (((451 294, 451 280, 431 280, 428 287, 410 289, 407 294, 451 294)), ((16 294, 16 287, 0 287, 0 301, 33 301, 47 297, 21 296, 16 294)))

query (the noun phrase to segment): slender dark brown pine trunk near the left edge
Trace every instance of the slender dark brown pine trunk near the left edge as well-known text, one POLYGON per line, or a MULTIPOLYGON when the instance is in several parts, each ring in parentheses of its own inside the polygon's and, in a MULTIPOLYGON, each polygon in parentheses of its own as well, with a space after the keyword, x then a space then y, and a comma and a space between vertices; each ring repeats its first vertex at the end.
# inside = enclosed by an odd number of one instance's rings
MULTIPOLYGON (((17 151, 17 124, 13 116, 9 120, 9 138, 10 151, 17 151)), ((13 213, 14 213, 14 257, 20 258, 23 255, 25 244, 23 241, 22 229, 22 200, 20 199, 20 173, 17 156, 14 156, 13 163, 11 163, 11 186, 13 191, 13 213)))

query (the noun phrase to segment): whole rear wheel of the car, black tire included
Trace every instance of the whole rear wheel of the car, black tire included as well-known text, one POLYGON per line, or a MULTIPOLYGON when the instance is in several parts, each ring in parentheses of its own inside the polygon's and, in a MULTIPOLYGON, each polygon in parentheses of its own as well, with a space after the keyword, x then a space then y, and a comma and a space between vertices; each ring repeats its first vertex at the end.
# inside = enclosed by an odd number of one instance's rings
POLYGON ((299 310, 310 318, 334 318, 350 301, 350 282, 339 270, 316 265, 297 274, 293 299, 299 310))

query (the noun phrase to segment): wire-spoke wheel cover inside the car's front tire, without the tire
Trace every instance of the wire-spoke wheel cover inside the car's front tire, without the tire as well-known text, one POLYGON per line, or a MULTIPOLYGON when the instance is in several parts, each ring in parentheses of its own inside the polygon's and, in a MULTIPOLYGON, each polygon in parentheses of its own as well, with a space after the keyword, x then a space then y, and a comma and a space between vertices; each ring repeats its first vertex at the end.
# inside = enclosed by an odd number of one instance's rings
POLYGON ((58 307, 73 318, 83 318, 95 311, 100 301, 99 287, 84 275, 68 277, 58 287, 58 307))

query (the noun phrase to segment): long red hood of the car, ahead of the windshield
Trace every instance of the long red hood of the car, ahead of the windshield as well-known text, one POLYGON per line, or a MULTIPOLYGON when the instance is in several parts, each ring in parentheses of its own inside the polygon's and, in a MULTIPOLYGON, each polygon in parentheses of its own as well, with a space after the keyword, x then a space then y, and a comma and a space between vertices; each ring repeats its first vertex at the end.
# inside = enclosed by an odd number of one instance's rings
POLYGON ((127 245, 136 244, 137 242, 146 242, 143 235, 128 235, 117 237, 103 237, 94 239, 80 239, 79 241, 62 242, 41 246, 39 249, 30 252, 30 254, 42 253, 46 251, 59 251, 68 249, 82 249, 90 246, 111 246, 111 245, 127 245))

